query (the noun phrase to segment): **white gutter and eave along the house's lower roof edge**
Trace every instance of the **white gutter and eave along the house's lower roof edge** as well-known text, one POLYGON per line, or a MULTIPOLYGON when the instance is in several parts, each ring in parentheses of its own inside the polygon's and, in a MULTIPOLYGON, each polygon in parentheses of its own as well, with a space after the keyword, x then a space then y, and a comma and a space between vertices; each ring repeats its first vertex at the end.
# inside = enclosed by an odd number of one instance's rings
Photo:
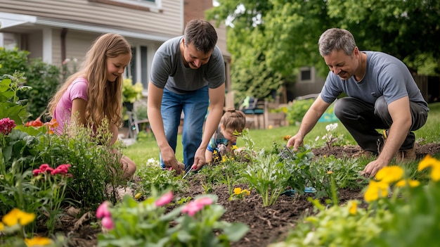
POLYGON ((131 37, 137 39, 147 39, 158 42, 165 42, 171 37, 155 35, 155 34, 145 34, 142 32, 131 32, 127 30, 118 30, 111 27, 101 27, 96 25, 87 25, 84 23, 68 23, 63 20, 56 20, 51 18, 42 18, 34 15, 22 15, 15 13, 5 13, 0 12, 0 32, 1 30, 7 30, 11 27, 25 26, 25 25, 42 25, 48 27, 60 27, 72 30, 80 30, 86 32, 98 32, 106 33, 112 32, 117 34, 122 34, 124 37, 131 37))

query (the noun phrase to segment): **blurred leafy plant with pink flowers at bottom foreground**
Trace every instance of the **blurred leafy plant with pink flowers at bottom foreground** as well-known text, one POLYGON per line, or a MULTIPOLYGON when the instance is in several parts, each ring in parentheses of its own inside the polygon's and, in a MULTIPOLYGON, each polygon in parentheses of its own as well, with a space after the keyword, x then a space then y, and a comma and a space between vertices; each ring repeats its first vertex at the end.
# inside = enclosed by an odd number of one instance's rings
POLYGON ((229 246, 249 229, 242 223, 221 221, 226 210, 216 204, 214 195, 198 196, 165 213, 164 206, 172 199, 168 191, 140 203, 125 196, 114 208, 103 203, 96 217, 107 231, 98 236, 98 246, 229 246))

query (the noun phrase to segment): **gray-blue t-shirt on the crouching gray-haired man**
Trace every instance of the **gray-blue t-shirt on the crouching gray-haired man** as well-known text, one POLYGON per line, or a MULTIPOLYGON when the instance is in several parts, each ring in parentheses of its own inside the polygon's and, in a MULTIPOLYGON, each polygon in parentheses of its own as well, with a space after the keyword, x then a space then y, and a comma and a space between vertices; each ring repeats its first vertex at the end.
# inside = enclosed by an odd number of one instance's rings
POLYGON ((413 76, 402 61, 378 51, 363 53, 367 54, 367 70, 361 82, 356 82, 354 76, 342 80, 330 71, 321 91, 323 101, 332 103, 342 92, 371 104, 382 95, 388 104, 408 96, 410 101, 429 110, 413 76))

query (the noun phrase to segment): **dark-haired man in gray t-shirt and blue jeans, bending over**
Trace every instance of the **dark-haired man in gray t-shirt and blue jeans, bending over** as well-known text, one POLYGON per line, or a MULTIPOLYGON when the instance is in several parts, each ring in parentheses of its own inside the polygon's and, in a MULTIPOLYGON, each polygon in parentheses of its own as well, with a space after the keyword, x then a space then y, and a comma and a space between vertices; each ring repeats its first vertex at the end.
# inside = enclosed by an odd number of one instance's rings
POLYGON ((175 152, 182 111, 186 170, 198 170, 205 165, 209 139, 223 115, 226 75, 216 42, 217 34, 210 23, 191 20, 185 34, 164 42, 153 58, 148 120, 160 148, 162 167, 173 167, 178 173, 175 152))

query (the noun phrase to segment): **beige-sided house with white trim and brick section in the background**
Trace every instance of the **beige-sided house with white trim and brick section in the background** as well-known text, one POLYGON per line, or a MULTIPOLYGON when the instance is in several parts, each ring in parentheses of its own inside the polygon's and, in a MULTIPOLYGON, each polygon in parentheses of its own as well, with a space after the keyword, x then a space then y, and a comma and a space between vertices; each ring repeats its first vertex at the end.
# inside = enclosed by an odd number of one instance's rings
MULTIPOLYGON (((2 13, 25 18, 17 25, 0 27, 0 32, 13 34, 19 49, 30 51, 30 58, 42 58, 44 62, 58 66, 70 59, 67 68, 71 72, 75 66, 79 68, 86 51, 98 36, 105 32, 122 34, 134 47, 136 55, 132 61, 134 70, 126 70, 125 76, 133 77, 134 82, 142 82, 146 95, 151 63, 159 46, 167 39, 182 35, 186 20, 204 19, 204 10, 212 7, 212 0, 155 0, 157 6, 148 1, 143 1, 146 6, 139 6, 139 2, 0 0, 0 21, 2 13)), ((217 45, 224 54, 228 90, 231 88, 231 55, 226 50, 226 27, 216 27, 216 30, 219 36, 217 45)))

